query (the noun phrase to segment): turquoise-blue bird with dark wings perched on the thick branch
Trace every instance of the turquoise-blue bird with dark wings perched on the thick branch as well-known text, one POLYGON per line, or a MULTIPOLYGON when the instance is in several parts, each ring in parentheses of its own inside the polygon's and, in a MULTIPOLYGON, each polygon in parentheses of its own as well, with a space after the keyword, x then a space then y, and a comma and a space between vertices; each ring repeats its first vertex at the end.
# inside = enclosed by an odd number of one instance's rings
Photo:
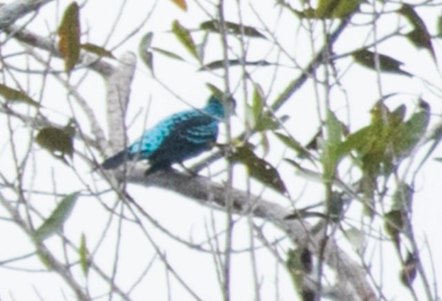
POLYGON ((107 158, 101 167, 112 170, 126 161, 148 160, 145 174, 166 170, 173 163, 198 156, 211 149, 218 138, 218 124, 224 120, 224 105, 211 95, 202 109, 181 111, 158 122, 135 142, 107 158))

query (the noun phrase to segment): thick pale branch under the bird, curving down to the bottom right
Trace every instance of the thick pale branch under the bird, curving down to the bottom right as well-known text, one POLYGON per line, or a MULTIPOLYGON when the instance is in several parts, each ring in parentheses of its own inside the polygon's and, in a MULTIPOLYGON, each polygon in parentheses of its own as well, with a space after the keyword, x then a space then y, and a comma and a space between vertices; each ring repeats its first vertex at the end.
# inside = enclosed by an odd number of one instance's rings
MULTIPOLYGON (((135 168, 126 179, 128 183, 156 186, 182 194, 191 199, 217 203, 225 207, 226 188, 202 177, 188 176, 177 172, 157 172, 148 178, 144 169, 135 168)), ((298 244, 308 245, 316 255, 325 239, 323 231, 314 235, 310 232, 311 225, 294 219, 285 219, 292 212, 271 201, 248 195, 240 190, 232 190, 233 208, 239 215, 252 214, 271 222, 298 244)), ((341 250, 332 237, 327 237, 324 252, 325 262, 333 268, 338 277, 336 293, 345 296, 345 300, 376 300, 376 294, 366 279, 366 272, 352 258, 341 250), (351 296, 351 298, 349 298, 351 296)))

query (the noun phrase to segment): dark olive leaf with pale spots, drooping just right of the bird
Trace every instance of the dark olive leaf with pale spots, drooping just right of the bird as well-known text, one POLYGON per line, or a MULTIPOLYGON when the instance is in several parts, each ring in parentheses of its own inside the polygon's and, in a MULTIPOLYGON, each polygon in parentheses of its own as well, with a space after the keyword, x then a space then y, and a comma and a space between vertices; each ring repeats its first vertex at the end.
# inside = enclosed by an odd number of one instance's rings
POLYGON ((244 164, 253 179, 268 185, 282 194, 287 192, 278 170, 264 159, 256 156, 250 145, 236 147, 235 152, 229 156, 229 161, 231 161, 231 163, 244 164))

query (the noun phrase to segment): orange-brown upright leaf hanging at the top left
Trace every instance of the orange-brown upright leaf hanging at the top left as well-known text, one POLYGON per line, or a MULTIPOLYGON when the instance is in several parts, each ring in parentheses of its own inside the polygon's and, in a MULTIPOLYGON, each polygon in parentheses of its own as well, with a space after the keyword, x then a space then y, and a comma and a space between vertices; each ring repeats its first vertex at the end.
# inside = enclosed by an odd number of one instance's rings
POLYGON ((64 58, 65 71, 69 73, 77 64, 80 53, 79 6, 70 3, 58 28, 58 47, 64 58))

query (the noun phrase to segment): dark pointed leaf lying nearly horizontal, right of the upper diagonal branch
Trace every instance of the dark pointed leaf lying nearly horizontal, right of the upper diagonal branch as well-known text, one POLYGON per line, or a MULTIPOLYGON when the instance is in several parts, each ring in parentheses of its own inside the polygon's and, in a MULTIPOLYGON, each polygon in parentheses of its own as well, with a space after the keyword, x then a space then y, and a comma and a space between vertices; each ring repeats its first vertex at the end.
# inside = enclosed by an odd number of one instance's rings
MULTIPOLYGON (((354 61, 362 66, 377 71, 376 69, 376 54, 365 49, 360 51, 354 51, 352 54, 354 61)), ((379 70, 382 72, 396 73, 400 75, 412 76, 412 74, 401 70, 399 67, 403 65, 403 62, 395 60, 393 57, 387 55, 378 54, 379 70)))

